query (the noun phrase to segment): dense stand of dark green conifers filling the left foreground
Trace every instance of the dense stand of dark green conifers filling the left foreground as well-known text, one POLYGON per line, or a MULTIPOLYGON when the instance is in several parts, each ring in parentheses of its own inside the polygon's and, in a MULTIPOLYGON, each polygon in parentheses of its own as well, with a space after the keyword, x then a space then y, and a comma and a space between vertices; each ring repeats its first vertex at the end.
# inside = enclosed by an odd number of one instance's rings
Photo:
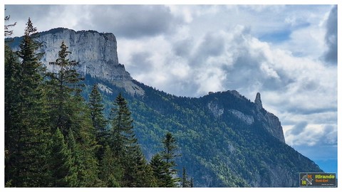
POLYGON ((59 70, 48 73, 35 36, 28 19, 20 50, 5 45, 5 186, 193 186, 185 167, 176 169, 182 157, 170 132, 147 161, 125 97, 112 100, 106 117, 96 84, 83 98, 84 78, 73 69, 78 63, 68 60, 68 47, 61 44, 49 63, 59 70))

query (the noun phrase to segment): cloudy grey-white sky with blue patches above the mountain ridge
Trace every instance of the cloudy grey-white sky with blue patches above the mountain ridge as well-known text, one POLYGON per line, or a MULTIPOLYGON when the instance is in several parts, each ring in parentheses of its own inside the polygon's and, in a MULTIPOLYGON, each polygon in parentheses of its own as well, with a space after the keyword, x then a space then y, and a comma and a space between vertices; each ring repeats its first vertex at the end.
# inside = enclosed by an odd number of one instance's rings
POLYGON ((237 90, 276 114, 286 143, 337 171, 337 6, 5 5, 22 36, 65 27, 114 33, 119 62, 174 95, 237 90))

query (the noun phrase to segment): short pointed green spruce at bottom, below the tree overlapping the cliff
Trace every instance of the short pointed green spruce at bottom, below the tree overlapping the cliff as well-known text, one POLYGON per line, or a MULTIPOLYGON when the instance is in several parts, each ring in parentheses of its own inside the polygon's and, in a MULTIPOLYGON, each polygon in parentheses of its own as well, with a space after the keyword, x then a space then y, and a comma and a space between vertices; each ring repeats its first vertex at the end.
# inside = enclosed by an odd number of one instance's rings
POLYGON ((64 141, 63 134, 57 128, 51 143, 51 171, 52 186, 77 186, 77 172, 71 151, 64 141))

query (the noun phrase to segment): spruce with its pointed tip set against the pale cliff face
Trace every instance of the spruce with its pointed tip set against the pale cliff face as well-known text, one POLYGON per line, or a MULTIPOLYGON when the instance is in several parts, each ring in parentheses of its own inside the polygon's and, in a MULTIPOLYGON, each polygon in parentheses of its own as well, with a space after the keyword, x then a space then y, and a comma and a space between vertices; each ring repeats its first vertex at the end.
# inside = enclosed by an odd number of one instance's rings
MULTIPOLYGON (((58 58, 55 62, 49 63, 50 65, 56 65, 59 70, 58 73, 47 73, 50 80, 46 82, 49 87, 48 99, 50 103, 50 117, 51 127, 53 131, 61 129, 64 136, 68 134, 68 129, 71 128, 74 133, 79 132, 79 127, 73 122, 76 119, 75 114, 76 107, 79 103, 76 103, 75 95, 81 92, 81 84, 79 74, 75 70, 75 66, 78 63, 75 60, 69 60, 67 57, 71 54, 68 51, 68 47, 64 42, 61 44, 61 50, 58 52, 58 58)), ((74 135, 79 137, 79 135, 74 135)))

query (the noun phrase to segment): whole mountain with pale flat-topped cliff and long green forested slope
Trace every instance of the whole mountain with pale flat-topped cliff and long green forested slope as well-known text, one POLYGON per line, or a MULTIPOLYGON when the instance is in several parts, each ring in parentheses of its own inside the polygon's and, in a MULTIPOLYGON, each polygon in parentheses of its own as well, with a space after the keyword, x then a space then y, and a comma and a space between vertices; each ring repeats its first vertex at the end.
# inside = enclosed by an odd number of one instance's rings
MULTIPOLYGON (((197 187, 299 186, 299 172, 321 172, 310 159, 285 143, 279 118, 235 90, 209 92, 203 97, 177 97, 133 80, 118 63, 115 36, 96 31, 56 28, 38 34, 46 54, 42 62, 56 60, 64 41, 80 63, 85 78, 83 96, 91 86, 102 90, 105 113, 119 92, 128 100, 135 134, 150 159, 160 151, 160 140, 172 132, 180 146, 178 169, 184 166, 197 187)), ((16 49, 20 38, 11 43, 16 49)))

